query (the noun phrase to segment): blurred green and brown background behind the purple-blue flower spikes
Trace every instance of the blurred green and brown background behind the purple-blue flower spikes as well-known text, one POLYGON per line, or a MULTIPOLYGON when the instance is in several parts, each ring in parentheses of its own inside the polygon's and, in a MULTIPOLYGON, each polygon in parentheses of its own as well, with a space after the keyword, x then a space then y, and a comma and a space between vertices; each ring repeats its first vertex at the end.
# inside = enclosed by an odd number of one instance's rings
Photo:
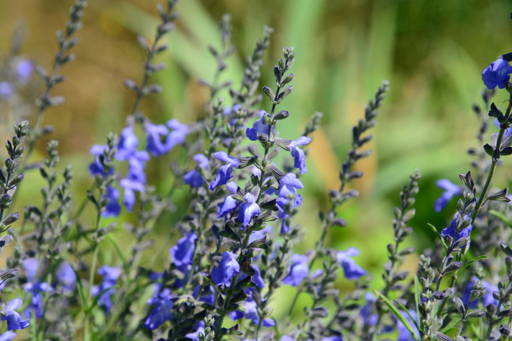
MULTIPOLYGON (((64 96, 66 103, 48 110, 44 121, 55 128, 52 138, 60 141, 61 166, 74 165, 77 204, 92 185, 86 169, 92 160, 90 147, 103 143, 109 131, 119 132, 133 105, 134 98, 122 81, 139 82, 142 77, 144 55, 136 36, 152 38, 156 3, 91 0, 84 12, 79 43, 73 49, 76 60, 63 68, 66 82, 53 92, 64 96)), ((12 33, 21 25, 23 56, 49 69, 57 48, 55 31, 68 20, 71 4, 70 0, 0 0, 0 54, 9 54, 12 33)), ((166 38, 170 49, 160 56, 167 68, 152 78, 163 92, 146 99, 142 110, 156 123, 170 118, 190 123, 204 115, 208 92, 198 79, 209 80, 214 75, 216 64, 207 46, 220 45, 217 22, 222 14, 232 15, 232 43, 237 48, 222 80, 234 84, 241 80, 244 57, 252 52, 263 26, 273 27, 261 85, 274 84, 272 67, 284 46, 294 46, 296 51, 294 91, 281 105, 291 115, 279 127, 281 136, 295 139, 314 111, 325 115, 310 145, 309 172, 303 177, 304 205, 295 218, 304 226, 305 238, 297 245, 297 252, 302 253, 319 236, 317 212, 327 208, 327 191, 338 187, 339 164, 350 148, 351 125, 362 117, 364 104, 380 81, 389 79, 391 91, 372 132, 373 154, 357 165, 365 172, 354 182, 361 195, 342 209, 347 228, 331 231, 327 239, 339 249, 358 247, 361 255, 356 261, 377 274, 373 285, 379 289, 378 274, 387 259, 385 245, 393 238, 393 207, 412 171, 419 168, 423 179, 412 221, 415 233, 408 244, 416 245, 418 251, 431 246, 434 236, 426 223, 441 229, 453 215, 455 200, 448 209, 434 213, 433 202, 441 193, 435 181, 449 178, 458 183, 457 174, 471 169, 472 159, 465 151, 477 146, 479 126, 471 106, 481 103, 484 67, 512 50, 510 5, 510 1, 492 0, 181 0, 177 29, 166 38)), ((34 94, 42 89, 37 76, 33 76, 33 87, 34 94)), ((227 94, 222 95, 229 103, 227 94)), ((504 99, 503 90, 495 101, 503 106, 504 99)), ((268 101, 261 104, 261 108, 269 107, 268 101)), ((26 115, 34 119, 35 112, 29 107, 26 115)), ((6 115, 6 110, 0 111, 4 119, 6 115)), ((3 132, 9 128, 6 120, 0 124, 3 132)), ((162 193, 172 184, 170 160, 185 154, 178 149, 147 168, 148 178, 162 193)), ((45 141, 41 141, 31 161, 41 160, 44 152, 45 141)), ((498 183, 506 184, 509 171, 507 165, 499 168, 498 183)), ((27 174, 17 208, 39 203, 40 187, 37 172, 27 174)), ((178 210, 180 195, 186 195, 186 188, 175 199, 178 210)), ((172 216, 156 226, 157 240, 167 234, 172 216)), ((131 218, 124 215, 121 219, 131 218)), ((121 230, 116 238, 129 245, 121 230)), ((404 266, 415 269, 415 257, 404 266)), ((117 261, 109 247, 103 247, 102 260, 117 261)), ((160 266, 166 261, 163 257, 160 266)), ((338 286, 348 290, 351 283, 340 279, 338 286)), ((288 289, 282 289, 281 301, 291 301, 288 289)), ((286 313, 280 305, 274 306, 275 316, 286 313)), ((301 311, 299 304, 295 313, 301 311)))

